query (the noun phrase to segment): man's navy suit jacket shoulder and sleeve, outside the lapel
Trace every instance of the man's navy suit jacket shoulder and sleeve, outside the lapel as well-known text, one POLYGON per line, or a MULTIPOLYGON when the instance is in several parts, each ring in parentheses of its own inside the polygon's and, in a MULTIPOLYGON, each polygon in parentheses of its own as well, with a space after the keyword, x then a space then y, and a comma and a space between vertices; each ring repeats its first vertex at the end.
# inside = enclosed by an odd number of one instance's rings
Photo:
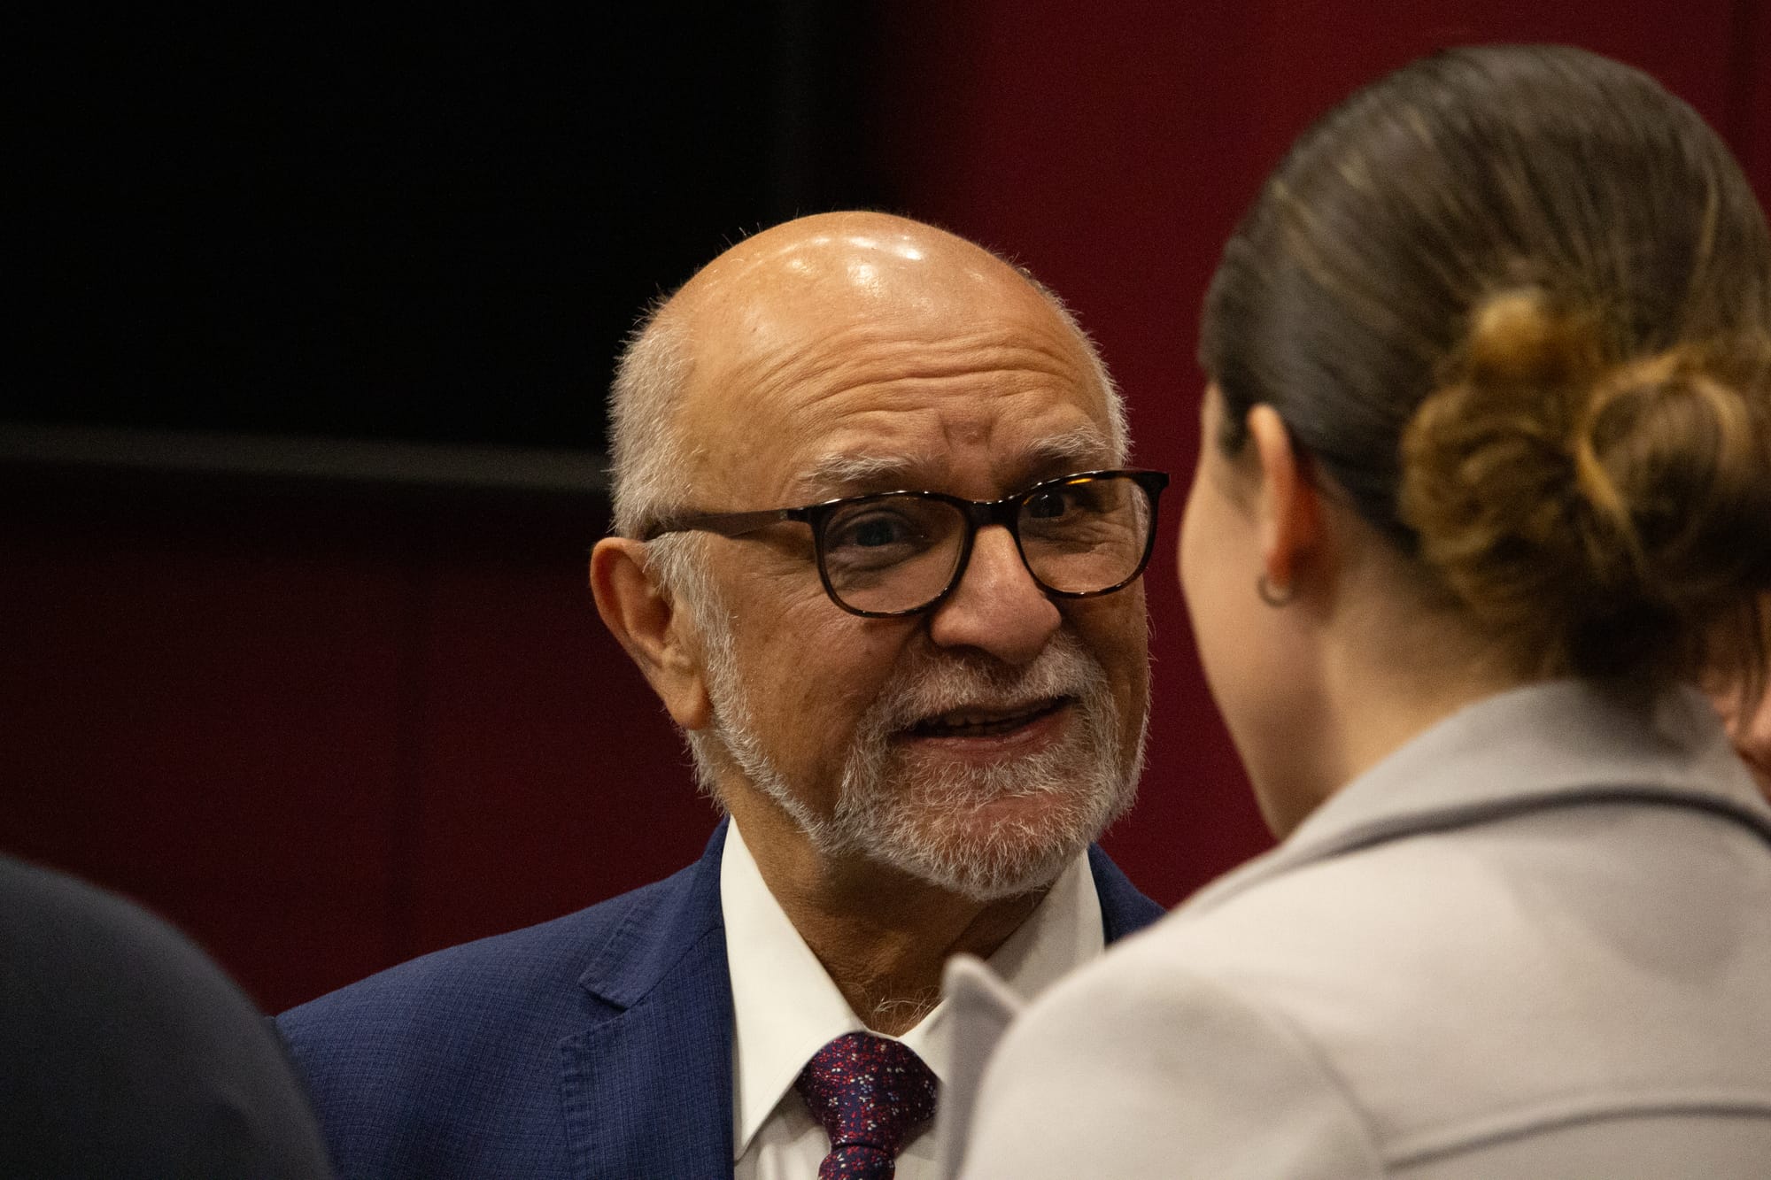
POLYGON ((340 1175, 565 1175, 561 1045, 620 1015, 599 971, 622 978, 677 962, 661 944, 707 921, 717 928, 717 859, 712 918, 687 912, 705 866, 282 1013, 340 1175))

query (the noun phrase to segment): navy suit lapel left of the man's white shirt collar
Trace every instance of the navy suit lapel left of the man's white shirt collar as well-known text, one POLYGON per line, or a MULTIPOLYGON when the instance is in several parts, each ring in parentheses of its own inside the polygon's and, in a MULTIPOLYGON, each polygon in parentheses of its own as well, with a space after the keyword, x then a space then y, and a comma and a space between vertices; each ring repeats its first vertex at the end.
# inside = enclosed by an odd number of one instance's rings
POLYGON ((579 983, 606 1019, 560 1042, 574 1175, 731 1175, 721 824, 682 888, 636 907, 579 983))

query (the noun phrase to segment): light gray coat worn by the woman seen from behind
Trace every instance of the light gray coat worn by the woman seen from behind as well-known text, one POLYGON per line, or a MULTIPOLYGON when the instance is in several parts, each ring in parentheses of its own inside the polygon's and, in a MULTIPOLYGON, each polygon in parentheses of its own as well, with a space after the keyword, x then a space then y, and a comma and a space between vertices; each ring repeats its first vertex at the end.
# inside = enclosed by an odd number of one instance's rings
POLYGON ((1045 994, 965 1176, 1771 1176, 1771 808, 1705 702, 1481 702, 1045 994))

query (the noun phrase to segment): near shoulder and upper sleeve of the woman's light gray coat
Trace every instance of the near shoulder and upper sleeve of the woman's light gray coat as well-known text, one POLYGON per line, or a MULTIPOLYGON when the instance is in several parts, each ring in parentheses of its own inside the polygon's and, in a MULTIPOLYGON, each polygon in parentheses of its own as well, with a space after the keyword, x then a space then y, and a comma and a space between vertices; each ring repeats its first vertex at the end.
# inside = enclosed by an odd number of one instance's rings
POLYGON ((1259 999, 1148 953, 1040 996, 990 1058, 963 1176, 1376 1178, 1364 1111, 1259 999))

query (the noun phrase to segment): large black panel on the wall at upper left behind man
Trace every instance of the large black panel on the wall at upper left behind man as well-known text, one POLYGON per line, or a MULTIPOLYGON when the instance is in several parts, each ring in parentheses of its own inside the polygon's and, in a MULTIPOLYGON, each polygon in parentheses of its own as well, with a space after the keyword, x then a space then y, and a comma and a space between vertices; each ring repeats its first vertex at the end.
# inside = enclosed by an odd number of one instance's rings
POLYGON ((39 14, 0 420, 602 445, 634 315, 893 206, 864 4, 39 14))

